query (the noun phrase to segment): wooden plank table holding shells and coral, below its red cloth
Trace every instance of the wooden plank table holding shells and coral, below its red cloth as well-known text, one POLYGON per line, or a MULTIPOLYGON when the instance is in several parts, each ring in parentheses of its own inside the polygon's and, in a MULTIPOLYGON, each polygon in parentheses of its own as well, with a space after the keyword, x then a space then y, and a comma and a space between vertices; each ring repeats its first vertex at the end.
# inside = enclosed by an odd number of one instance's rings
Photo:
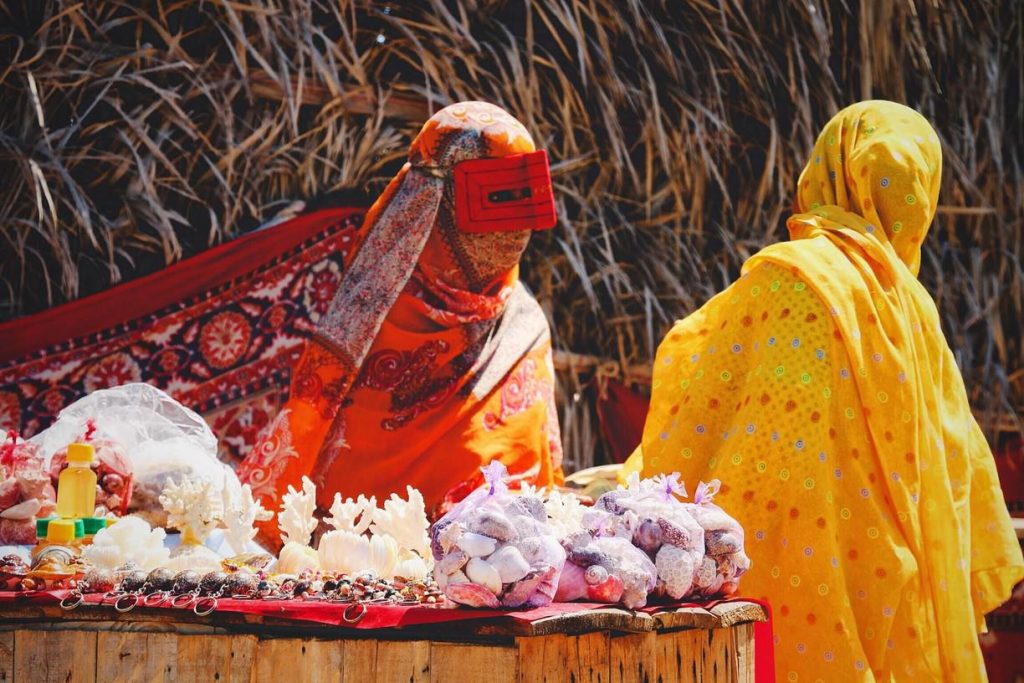
POLYGON ((252 614, 0 607, 0 682, 754 680, 755 603, 388 631, 252 614))

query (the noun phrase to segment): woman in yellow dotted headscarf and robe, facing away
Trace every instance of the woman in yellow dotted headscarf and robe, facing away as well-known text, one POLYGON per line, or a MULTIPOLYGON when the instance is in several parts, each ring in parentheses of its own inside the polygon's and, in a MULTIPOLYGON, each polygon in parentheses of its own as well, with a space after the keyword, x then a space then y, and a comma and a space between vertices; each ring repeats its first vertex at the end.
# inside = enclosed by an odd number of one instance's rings
POLYGON ((984 679, 978 633, 1024 562, 955 358, 918 282, 939 139, 865 101, 825 126, 791 241, 657 351, 627 472, 719 478, 783 681, 984 679))

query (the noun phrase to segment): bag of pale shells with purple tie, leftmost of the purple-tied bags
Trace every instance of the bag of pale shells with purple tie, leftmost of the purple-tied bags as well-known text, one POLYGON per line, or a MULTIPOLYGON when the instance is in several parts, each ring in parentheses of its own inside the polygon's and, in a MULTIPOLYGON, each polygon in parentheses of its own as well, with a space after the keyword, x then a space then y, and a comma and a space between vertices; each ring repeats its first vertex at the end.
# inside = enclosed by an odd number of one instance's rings
POLYGON ((535 494, 512 494, 507 470, 482 468, 485 484, 431 528, 434 579, 471 607, 540 607, 555 597, 565 551, 535 494))

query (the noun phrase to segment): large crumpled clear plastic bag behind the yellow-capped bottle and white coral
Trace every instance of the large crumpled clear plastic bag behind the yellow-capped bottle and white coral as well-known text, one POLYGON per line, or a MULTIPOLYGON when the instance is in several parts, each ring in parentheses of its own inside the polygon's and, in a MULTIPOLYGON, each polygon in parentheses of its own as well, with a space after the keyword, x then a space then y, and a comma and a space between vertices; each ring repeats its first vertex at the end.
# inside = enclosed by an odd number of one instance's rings
MULTIPOLYGON (((56 421, 34 436, 46 464, 69 443, 89 433, 130 464, 133 485, 127 511, 154 526, 165 526, 159 502, 170 481, 187 478, 241 489, 238 476, 217 460, 217 437, 200 415, 148 384, 125 384, 93 391, 60 411, 56 421)), ((114 456, 112 455, 112 458, 114 456)))

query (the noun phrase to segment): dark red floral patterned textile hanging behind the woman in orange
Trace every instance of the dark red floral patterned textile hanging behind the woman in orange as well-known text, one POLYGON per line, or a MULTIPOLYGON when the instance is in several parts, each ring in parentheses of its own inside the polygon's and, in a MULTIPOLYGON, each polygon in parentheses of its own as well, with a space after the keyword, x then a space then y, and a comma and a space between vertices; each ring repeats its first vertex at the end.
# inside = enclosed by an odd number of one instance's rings
MULTIPOLYGON (((102 303, 96 295, 46 311, 54 321, 85 311, 95 330, 0 365, 0 428, 30 436, 90 391, 142 381, 204 415, 221 457, 241 461, 288 397, 292 368, 328 310, 362 213, 299 216, 113 288, 102 303), (240 258, 225 270, 227 252, 240 258), (196 282, 203 286, 175 296, 196 282), (153 310, 119 317, 140 300, 155 302, 153 310)), ((14 343, 15 328, 33 326, 0 326, 0 346, 14 343)))

